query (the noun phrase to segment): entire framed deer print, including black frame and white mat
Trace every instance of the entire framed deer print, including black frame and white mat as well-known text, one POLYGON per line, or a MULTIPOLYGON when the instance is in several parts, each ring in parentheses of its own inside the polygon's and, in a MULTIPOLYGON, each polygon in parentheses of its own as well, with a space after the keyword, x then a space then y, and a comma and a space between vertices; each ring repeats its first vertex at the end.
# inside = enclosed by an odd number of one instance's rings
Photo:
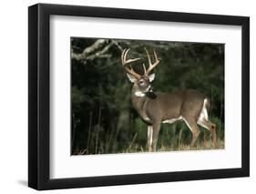
POLYGON ((28 8, 28 186, 250 175, 250 19, 28 8))

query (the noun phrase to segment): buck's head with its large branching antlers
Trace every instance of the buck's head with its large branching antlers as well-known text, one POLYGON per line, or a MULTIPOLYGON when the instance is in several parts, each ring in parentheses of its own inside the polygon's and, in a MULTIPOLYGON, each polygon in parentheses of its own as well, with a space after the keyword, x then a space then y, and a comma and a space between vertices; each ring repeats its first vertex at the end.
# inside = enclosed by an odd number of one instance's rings
POLYGON ((152 63, 151 58, 148 54, 148 50, 145 48, 148 56, 148 69, 146 68, 145 64, 142 64, 144 69, 144 75, 139 75, 137 72, 135 72, 130 63, 138 61, 140 60, 140 58, 127 59, 129 50, 129 48, 124 49, 124 51, 122 52, 122 65, 127 71, 129 81, 134 84, 134 88, 136 89, 135 94, 138 97, 144 97, 146 93, 152 92, 152 87, 150 83, 155 79, 155 73, 150 74, 150 72, 159 65, 160 59, 154 51, 155 62, 152 63))

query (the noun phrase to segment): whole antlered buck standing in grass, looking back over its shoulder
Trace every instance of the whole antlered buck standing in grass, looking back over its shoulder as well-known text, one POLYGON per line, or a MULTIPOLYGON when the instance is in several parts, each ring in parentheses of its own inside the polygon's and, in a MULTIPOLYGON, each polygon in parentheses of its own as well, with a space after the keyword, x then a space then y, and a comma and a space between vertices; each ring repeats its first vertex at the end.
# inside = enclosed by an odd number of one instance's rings
POLYGON ((138 115, 148 124, 148 150, 156 151, 157 141, 161 123, 174 123, 183 120, 192 132, 190 146, 194 146, 200 134, 198 124, 210 130, 213 143, 216 142, 216 126, 210 122, 208 109, 210 100, 203 94, 192 90, 181 90, 169 93, 153 93, 154 97, 147 94, 152 93, 151 82, 155 79, 152 70, 159 65, 160 59, 154 53, 154 63, 145 48, 148 56, 148 69, 142 64, 144 75, 139 75, 131 66, 132 62, 140 58, 127 59, 128 51, 124 49, 121 55, 122 65, 127 71, 128 79, 133 83, 131 89, 132 106, 137 110, 138 115))

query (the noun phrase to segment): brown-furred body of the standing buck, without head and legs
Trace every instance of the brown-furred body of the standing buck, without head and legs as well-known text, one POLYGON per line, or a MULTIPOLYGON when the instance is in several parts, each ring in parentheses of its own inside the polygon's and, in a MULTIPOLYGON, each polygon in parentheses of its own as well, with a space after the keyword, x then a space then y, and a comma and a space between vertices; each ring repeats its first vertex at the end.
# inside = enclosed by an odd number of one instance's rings
MULTIPOLYGON (((133 88, 135 91, 136 89, 133 88)), ((171 93, 156 93, 155 98, 137 97, 132 92, 132 105, 139 116, 153 123, 156 120, 164 121, 169 118, 193 117, 198 119, 205 97, 196 91, 175 91, 171 93), (149 118, 149 120, 147 119, 149 118)))

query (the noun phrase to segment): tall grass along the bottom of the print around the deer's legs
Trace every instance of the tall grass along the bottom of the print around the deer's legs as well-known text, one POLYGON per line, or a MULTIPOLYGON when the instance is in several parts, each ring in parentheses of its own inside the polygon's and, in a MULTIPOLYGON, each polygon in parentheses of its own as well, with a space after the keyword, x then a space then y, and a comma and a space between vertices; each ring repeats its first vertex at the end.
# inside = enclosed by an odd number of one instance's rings
MULTIPOLYGON (((147 125, 140 118, 131 120, 131 132, 133 135, 126 141, 119 141, 118 135, 122 133, 123 128, 115 126, 114 128, 103 128, 100 125, 99 111, 97 119, 98 124, 92 126, 94 114, 89 114, 87 144, 85 148, 76 148, 73 155, 89 154, 111 154, 111 153, 135 153, 147 152, 147 125)), ((133 118, 132 118, 133 119, 133 118)), ((171 125, 162 124, 159 132, 157 151, 180 151, 180 150, 202 150, 202 149, 220 149, 224 148, 224 130, 218 117, 211 119, 217 127, 217 143, 213 145, 210 138, 210 131, 200 128, 200 136, 196 144, 189 145, 192 134, 189 128, 182 121, 175 122, 171 125)), ((76 130, 75 130, 76 131, 76 130)))

